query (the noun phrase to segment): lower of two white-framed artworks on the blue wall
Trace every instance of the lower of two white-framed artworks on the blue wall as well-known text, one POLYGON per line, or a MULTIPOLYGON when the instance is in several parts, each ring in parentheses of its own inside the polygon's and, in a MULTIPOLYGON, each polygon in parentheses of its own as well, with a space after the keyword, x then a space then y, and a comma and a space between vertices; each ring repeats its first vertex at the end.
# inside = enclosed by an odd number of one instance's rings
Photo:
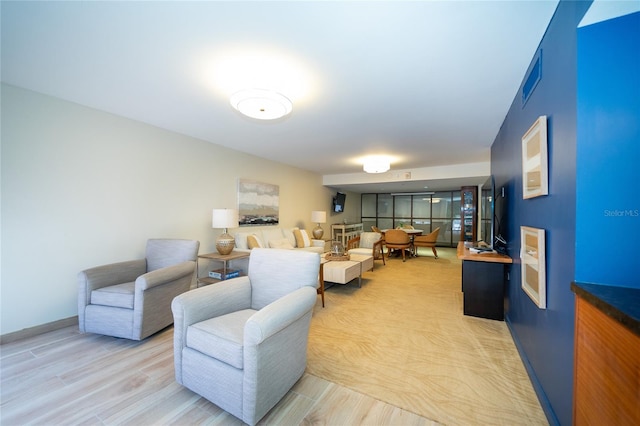
POLYGON ((522 289, 540 309, 547 308, 544 229, 520 227, 522 289))

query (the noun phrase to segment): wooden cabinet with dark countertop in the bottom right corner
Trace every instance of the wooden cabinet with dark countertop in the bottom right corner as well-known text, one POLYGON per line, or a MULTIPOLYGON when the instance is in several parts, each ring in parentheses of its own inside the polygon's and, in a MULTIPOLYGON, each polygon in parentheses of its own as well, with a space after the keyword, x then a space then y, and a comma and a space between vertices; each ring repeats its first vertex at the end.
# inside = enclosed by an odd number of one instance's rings
POLYGON ((576 294, 574 425, 640 425, 640 289, 571 285, 576 294))

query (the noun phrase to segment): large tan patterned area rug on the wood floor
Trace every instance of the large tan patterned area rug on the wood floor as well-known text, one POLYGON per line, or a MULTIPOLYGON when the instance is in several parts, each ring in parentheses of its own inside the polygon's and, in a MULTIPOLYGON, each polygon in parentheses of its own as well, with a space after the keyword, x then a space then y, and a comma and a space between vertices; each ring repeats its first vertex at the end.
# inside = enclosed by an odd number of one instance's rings
POLYGON ((463 315, 455 249, 426 250, 325 291, 307 373, 442 424, 547 424, 506 324, 463 315))

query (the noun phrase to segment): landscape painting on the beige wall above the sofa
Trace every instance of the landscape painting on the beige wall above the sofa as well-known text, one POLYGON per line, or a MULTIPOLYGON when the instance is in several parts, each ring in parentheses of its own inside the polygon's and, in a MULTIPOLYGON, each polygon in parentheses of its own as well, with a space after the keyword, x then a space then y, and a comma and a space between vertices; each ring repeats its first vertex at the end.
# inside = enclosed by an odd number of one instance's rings
POLYGON ((280 187, 238 179, 240 226, 277 225, 280 221, 280 187))

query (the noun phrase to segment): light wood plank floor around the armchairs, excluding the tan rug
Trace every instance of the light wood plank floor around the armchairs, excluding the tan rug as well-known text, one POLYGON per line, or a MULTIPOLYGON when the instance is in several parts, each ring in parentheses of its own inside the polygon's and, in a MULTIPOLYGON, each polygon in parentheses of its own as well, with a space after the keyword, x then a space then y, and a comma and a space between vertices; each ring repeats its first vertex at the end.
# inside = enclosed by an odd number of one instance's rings
MULTIPOLYGON (((66 327, 2 345, 0 423, 242 424, 176 383, 172 339, 173 328, 133 342, 66 327)), ((260 424, 436 423, 305 374, 260 424)))

